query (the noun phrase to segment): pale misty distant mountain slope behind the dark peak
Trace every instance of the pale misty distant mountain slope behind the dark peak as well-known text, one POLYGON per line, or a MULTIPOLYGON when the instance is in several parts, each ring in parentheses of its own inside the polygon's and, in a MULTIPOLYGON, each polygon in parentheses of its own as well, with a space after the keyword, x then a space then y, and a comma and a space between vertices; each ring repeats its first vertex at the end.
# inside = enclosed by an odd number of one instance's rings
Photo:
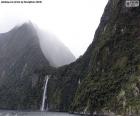
POLYGON ((41 49, 51 66, 59 67, 75 61, 71 51, 54 35, 37 29, 41 49))

